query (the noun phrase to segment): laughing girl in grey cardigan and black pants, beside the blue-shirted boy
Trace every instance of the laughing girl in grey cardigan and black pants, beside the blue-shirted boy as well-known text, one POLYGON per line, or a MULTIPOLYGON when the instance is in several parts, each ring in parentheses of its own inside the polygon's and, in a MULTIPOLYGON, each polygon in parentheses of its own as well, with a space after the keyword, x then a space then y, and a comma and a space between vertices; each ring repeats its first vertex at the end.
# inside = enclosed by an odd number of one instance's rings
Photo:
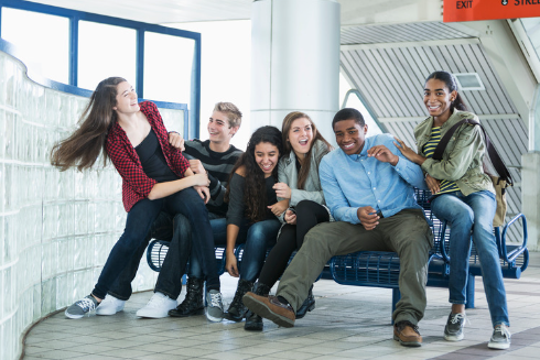
MULTIPOLYGON (((287 114, 281 129, 284 152, 278 166, 279 183, 273 188, 278 200, 287 200, 289 208, 279 216, 283 225, 278 241, 268 254, 253 290, 255 294, 262 296, 268 296, 270 288, 281 277, 292 253, 302 247, 307 231, 320 222, 334 220, 325 205, 318 179, 318 164, 332 145, 304 112, 287 114)), ((312 290, 313 285, 296 312, 296 319, 315 308, 312 290)), ((262 318, 255 313, 248 314, 244 328, 261 331, 262 318)))

